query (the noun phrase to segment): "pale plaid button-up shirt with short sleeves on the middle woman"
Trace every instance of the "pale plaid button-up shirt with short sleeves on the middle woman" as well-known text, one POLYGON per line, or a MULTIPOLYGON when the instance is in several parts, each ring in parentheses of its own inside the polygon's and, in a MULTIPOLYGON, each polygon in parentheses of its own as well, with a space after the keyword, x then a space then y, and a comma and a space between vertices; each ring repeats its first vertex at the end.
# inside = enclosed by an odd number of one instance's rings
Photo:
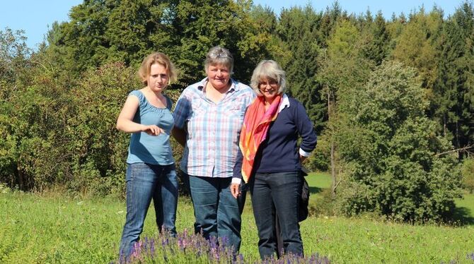
POLYGON ((187 131, 180 169, 193 176, 231 177, 245 109, 255 99, 252 88, 232 80, 218 103, 209 100, 207 78, 188 86, 176 102, 175 126, 187 131))

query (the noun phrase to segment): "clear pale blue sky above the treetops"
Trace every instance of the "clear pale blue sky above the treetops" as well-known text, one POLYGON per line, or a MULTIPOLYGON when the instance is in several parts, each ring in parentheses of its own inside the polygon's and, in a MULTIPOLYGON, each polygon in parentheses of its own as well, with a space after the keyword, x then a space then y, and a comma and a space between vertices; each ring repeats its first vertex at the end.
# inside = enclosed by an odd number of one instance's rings
MULTIPOLYGON (((323 11, 333 2, 333 0, 254 0, 254 4, 270 6, 275 13, 279 13, 282 8, 306 4, 311 4, 316 11, 323 11)), ((7 27, 12 30, 25 30, 28 47, 36 48, 37 44, 42 42, 48 25, 51 26, 54 21, 69 20, 71 7, 81 3, 82 0, 0 0, 0 30, 7 27)), ((422 5, 429 11, 434 4, 443 9, 445 15, 449 15, 461 3, 463 0, 339 0, 342 10, 349 13, 365 13, 369 8, 374 14, 379 10, 382 11, 386 18, 391 18, 392 13, 408 14, 412 10, 418 10, 422 5)))

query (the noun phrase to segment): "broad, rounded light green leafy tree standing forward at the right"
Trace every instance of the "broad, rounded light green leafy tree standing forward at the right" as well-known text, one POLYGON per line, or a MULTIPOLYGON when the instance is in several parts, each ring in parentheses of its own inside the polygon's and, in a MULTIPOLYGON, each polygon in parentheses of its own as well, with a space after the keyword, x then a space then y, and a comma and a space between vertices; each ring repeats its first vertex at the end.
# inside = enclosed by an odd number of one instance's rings
POLYGON ((359 88, 340 95, 337 143, 345 173, 342 212, 378 212, 408 222, 447 220, 461 177, 446 138, 425 116, 413 68, 388 61, 359 88))

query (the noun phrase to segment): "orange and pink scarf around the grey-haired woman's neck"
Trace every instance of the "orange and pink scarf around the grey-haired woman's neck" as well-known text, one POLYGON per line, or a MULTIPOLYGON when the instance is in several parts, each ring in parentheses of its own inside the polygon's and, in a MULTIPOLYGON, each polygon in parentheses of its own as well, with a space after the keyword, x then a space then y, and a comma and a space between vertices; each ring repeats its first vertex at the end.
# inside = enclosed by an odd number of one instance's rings
POLYGON ((265 97, 258 96, 248 106, 243 126, 239 146, 243 154, 242 178, 248 182, 252 174, 253 162, 257 155, 260 143, 267 138, 267 131, 272 121, 277 119, 278 109, 282 95, 277 95, 270 107, 265 111, 265 97))

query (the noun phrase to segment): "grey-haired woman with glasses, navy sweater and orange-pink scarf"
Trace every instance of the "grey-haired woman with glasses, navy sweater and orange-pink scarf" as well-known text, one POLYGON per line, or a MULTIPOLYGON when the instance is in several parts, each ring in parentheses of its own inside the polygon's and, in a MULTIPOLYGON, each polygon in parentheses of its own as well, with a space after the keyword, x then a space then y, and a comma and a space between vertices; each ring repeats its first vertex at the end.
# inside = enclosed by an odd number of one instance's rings
POLYGON ((231 193, 235 198, 240 195, 242 179, 250 186, 260 258, 272 258, 277 253, 275 216, 284 253, 302 256, 298 222, 301 162, 316 148, 316 133, 303 105, 284 94, 284 71, 277 62, 261 61, 250 86, 258 97, 243 119, 231 193))

